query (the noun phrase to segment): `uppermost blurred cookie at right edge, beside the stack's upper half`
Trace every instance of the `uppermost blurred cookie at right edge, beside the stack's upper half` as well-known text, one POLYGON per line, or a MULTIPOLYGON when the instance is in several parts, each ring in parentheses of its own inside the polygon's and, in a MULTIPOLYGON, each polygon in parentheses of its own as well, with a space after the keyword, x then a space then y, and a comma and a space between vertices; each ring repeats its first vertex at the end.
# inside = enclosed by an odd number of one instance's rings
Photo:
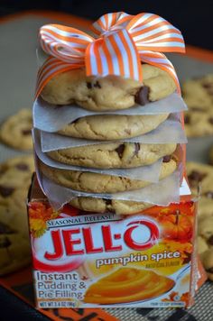
POLYGON ((183 83, 182 95, 189 107, 185 129, 189 137, 213 134, 213 75, 183 83))

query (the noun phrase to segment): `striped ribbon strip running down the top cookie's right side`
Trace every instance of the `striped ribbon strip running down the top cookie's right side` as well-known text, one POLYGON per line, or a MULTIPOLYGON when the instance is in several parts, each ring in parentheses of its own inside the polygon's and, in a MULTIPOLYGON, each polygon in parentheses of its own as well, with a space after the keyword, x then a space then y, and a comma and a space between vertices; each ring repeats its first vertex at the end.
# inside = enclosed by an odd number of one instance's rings
POLYGON ((162 52, 153 52, 150 50, 139 50, 139 55, 141 61, 158 67, 166 72, 168 72, 174 79, 177 86, 177 91, 181 95, 181 86, 176 74, 176 71, 170 60, 162 52))

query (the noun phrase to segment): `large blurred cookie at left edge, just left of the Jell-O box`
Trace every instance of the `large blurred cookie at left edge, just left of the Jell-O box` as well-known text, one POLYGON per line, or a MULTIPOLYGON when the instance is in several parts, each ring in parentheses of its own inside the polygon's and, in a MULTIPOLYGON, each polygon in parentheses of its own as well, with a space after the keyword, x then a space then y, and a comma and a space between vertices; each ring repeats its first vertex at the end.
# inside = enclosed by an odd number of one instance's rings
POLYGON ((32 155, 0 164, 0 275, 31 261, 26 198, 33 170, 32 155))

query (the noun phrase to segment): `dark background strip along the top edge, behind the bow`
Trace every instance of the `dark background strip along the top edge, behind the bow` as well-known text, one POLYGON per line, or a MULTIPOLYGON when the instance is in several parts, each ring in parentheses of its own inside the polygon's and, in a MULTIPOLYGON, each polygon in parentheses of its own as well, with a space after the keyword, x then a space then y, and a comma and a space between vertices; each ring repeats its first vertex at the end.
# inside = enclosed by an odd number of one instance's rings
POLYGON ((116 11, 159 14, 183 32, 186 43, 213 50, 213 0, 0 0, 0 15, 33 9, 60 11, 90 19, 116 11))

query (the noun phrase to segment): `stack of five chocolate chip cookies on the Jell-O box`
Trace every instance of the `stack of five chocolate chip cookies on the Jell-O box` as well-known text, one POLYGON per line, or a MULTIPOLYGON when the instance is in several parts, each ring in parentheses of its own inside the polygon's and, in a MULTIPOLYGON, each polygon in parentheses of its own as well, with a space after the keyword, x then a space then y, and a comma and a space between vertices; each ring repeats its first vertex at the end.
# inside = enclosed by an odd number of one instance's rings
POLYGON ((60 115, 60 108, 61 111, 64 108, 71 111, 74 105, 78 105, 82 111, 92 111, 92 115, 79 116, 72 123, 60 126, 55 133, 57 139, 60 137, 62 142, 69 141, 71 146, 56 147, 45 152, 45 157, 56 161, 58 167, 39 161, 38 168, 43 177, 59 188, 67 188, 66 191, 77 191, 75 197, 70 199, 72 206, 97 213, 137 213, 153 204, 113 197, 115 193, 152 184, 139 177, 129 177, 129 170, 149 167, 161 160, 159 179, 162 180, 171 176, 178 167, 177 157, 173 156, 177 143, 171 142, 170 137, 169 143, 131 141, 135 137, 153 133, 170 115, 169 112, 130 115, 126 110, 163 101, 176 91, 175 82, 168 72, 147 64, 141 66, 143 83, 118 76, 87 77, 85 69, 72 69, 51 78, 42 89, 40 99, 45 106, 45 113, 51 113, 53 108, 60 115), (121 113, 110 114, 117 110, 121 113), (77 140, 85 144, 73 145, 72 142, 77 140), (71 166, 76 169, 70 170, 71 166), (116 169, 125 170, 126 175, 107 174, 107 170, 116 169), (85 196, 82 196, 83 193, 85 196), (100 194, 102 197, 97 197, 100 194))

